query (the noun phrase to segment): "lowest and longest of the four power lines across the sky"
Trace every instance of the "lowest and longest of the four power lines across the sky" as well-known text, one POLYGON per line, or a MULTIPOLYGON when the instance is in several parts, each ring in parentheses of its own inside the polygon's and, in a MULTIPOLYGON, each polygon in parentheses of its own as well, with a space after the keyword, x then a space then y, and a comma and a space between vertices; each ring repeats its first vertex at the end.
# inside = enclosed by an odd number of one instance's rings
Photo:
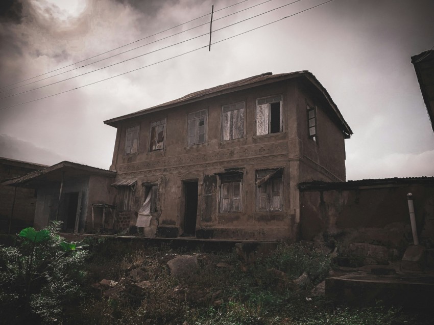
MULTIPOLYGON (((258 29, 260 29, 260 28, 263 28, 263 27, 265 27, 265 26, 271 25, 271 24, 273 24, 273 23, 275 23, 275 22, 278 22, 278 21, 281 21, 281 20, 283 20, 283 19, 290 18, 290 17, 293 17, 293 16, 295 16, 295 15, 301 14, 301 13, 303 13, 303 12, 305 12, 305 11, 308 11, 308 10, 310 10, 310 9, 314 9, 314 8, 319 7, 319 6, 325 5, 325 4, 327 4, 327 3, 329 3, 329 2, 332 2, 332 1, 333 1, 333 0, 328 0, 328 1, 326 1, 326 2, 323 2, 323 3, 319 4, 319 5, 309 7, 309 8, 307 8, 307 9, 302 10, 302 11, 296 12, 295 14, 292 14, 292 15, 289 15, 289 16, 285 16, 285 17, 283 17, 283 18, 280 18, 280 19, 274 20, 274 21, 272 21, 272 22, 269 22, 269 23, 263 24, 263 25, 258 26, 258 27, 256 27, 256 28, 253 28, 253 29, 251 29, 251 30, 245 31, 245 32, 243 32, 243 33, 239 33, 239 34, 236 34, 236 35, 233 35, 233 36, 227 37, 227 38, 225 38, 225 39, 223 39, 223 40, 213 42, 213 43, 211 43, 211 45, 214 45, 214 44, 217 44, 217 43, 221 43, 221 42, 223 42, 223 41, 229 40, 229 39, 231 39, 231 38, 234 38, 234 37, 237 37, 237 36, 240 36, 240 35, 247 34, 247 33, 249 33, 249 32, 252 32, 252 31, 258 30, 258 29)), ((108 77, 108 78, 105 78, 105 79, 98 80, 98 81, 93 82, 93 83, 90 83, 90 84, 86 84, 86 85, 79 86, 79 87, 76 87, 76 88, 73 88, 73 89, 65 90, 65 91, 62 91, 62 92, 59 92, 59 93, 56 93, 56 94, 52 94, 52 95, 49 95, 49 96, 45 96, 45 97, 41 97, 41 98, 37 98, 37 99, 33 99, 33 100, 29 100, 29 101, 22 102, 22 103, 19 103, 19 104, 15 104, 15 105, 7 106, 7 107, 2 107, 0 110, 7 110, 7 109, 10 109, 10 108, 12 108, 12 107, 16 107, 16 106, 20 106, 20 105, 28 104, 28 103, 31 103, 31 102, 35 102, 35 101, 38 101, 38 100, 45 99, 45 98, 49 98, 49 97, 57 96, 57 95, 60 95, 60 94, 64 94, 64 93, 67 93, 67 92, 70 92, 70 91, 73 91, 73 90, 76 90, 76 89, 80 89, 80 88, 83 88, 83 87, 87 87, 87 86, 91 86, 91 85, 94 85, 94 84, 98 84, 98 83, 101 83, 101 82, 103 82, 103 81, 106 81, 106 80, 109 80, 109 79, 112 79, 112 78, 115 78, 115 77, 118 77, 118 76, 121 76, 121 75, 124 75, 124 74, 130 73, 130 72, 134 72, 134 71, 137 71, 137 70, 140 70, 140 69, 144 69, 144 68, 147 68, 147 67, 150 67, 150 66, 153 66, 153 65, 156 65, 156 64, 159 64, 159 63, 162 63, 162 62, 168 61, 168 60, 172 60, 172 59, 175 59, 175 58, 178 58, 178 57, 184 56, 184 55, 186 55, 186 54, 188 54, 188 53, 195 52, 195 51, 197 51, 197 50, 200 50, 200 49, 202 49, 202 48, 207 48, 207 47, 208 47, 208 45, 201 46, 201 47, 198 47, 198 48, 196 48, 196 49, 193 49, 193 50, 190 50, 190 51, 187 51, 187 52, 181 53, 181 54, 179 54, 179 55, 177 55, 177 56, 174 56, 174 57, 171 57, 171 58, 167 58, 167 59, 164 59, 164 60, 161 60, 161 61, 158 61, 158 62, 154 62, 154 63, 152 63, 152 64, 149 64, 149 65, 146 65, 146 66, 143 66, 143 67, 140 67, 140 68, 136 68, 136 69, 133 69, 133 70, 130 70, 130 71, 127 71, 127 72, 119 73, 119 74, 113 75, 113 76, 108 77)))

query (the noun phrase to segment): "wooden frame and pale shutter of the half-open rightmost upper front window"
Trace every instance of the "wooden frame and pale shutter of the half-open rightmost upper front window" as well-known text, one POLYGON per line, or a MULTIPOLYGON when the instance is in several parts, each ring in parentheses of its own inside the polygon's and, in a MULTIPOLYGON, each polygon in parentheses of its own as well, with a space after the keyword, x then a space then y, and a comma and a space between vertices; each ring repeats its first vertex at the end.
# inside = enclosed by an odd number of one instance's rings
POLYGON ((283 96, 273 95, 256 99, 255 110, 255 134, 266 136, 283 132, 283 96), (272 104, 279 103, 279 131, 272 132, 271 110, 272 104), (259 111, 263 112, 263 118, 259 118, 259 111), (261 121, 262 120, 262 121, 261 121), (266 129, 267 128, 267 129, 266 129))

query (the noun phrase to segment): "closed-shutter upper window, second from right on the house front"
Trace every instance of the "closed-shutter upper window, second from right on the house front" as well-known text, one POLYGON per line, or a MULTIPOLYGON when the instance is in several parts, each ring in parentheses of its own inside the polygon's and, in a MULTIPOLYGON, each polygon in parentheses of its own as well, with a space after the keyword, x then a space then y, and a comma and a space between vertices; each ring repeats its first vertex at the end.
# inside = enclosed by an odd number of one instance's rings
POLYGON ((244 137, 244 102, 222 107, 222 140, 244 137))

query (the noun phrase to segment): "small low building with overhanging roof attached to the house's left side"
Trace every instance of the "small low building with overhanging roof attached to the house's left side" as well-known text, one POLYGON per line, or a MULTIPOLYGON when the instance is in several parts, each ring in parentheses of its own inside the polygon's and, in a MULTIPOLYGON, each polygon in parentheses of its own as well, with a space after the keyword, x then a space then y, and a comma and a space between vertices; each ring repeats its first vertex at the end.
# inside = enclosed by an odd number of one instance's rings
POLYGON ((114 231, 115 190, 110 185, 115 175, 112 171, 62 161, 2 185, 14 186, 17 191, 37 190, 31 218, 36 229, 59 220, 63 222, 63 232, 114 231))

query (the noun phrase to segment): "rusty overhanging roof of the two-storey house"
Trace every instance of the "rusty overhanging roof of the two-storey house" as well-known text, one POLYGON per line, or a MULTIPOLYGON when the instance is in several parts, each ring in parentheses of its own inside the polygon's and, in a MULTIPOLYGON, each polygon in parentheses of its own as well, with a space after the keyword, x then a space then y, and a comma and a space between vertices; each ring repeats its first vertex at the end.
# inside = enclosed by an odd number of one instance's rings
POLYGON ((304 77, 307 79, 312 85, 314 85, 326 98, 327 102, 330 104, 330 107, 332 109, 332 113, 337 118, 340 124, 340 128, 344 133, 345 138, 350 138, 351 134, 353 134, 350 126, 345 121, 344 117, 342 116, 339 109, 337 109, 336 104, 331 99, 330 95, 328 94, 327 90, 321 85, 321 83, 318 81, 318 79, 309 71, 297 71, 297 72, 291 72, 291 73, 279 73, 279 74, 272 74, 271 72, 258 74, 252 77, 248 77, 245 79, 237 80, 235 82, 231 82, 228 84, 216 86, 213 88, 204 89, 201 91, 197 91, 191 94, 188 94, 184 97, 168 101, 163 104, 159 104, 157 106, 150 107, 149 109, 141 110, 135 113, 119 116, 107 121, 104 121, 105 124, 116 127, 118 122, 124 121, 130 118, 142 116, 145 114, 149 114, 152 112, 162 111, 166 109, 170 109, 172 107, 179 106, 181 104, 187 104, 192 103, 195 101, 199 101, 206 98, 211 98, 215 96, 219 96, 222 94, 227 94, 230 92, 235 92, 243 89, 248 89, 260 85, 266 85, 271 83, 276 83, 282 80, 291 79, 291 78, 297 78, 297 77, 304 77))

